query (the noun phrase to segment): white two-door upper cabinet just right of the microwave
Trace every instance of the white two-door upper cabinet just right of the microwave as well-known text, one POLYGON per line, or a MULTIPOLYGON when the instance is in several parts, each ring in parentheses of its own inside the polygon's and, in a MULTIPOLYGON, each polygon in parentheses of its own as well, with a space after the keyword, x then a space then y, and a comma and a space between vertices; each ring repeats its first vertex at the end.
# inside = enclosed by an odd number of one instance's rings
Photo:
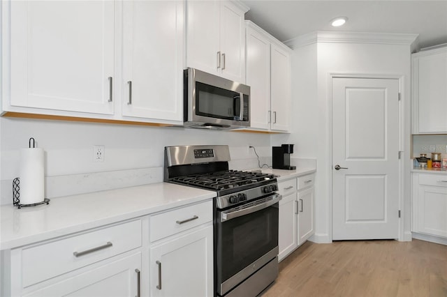
POLYGON ((251 128, 288 132, 291 111, 291 50, 247 21, 247 84, 251 128))

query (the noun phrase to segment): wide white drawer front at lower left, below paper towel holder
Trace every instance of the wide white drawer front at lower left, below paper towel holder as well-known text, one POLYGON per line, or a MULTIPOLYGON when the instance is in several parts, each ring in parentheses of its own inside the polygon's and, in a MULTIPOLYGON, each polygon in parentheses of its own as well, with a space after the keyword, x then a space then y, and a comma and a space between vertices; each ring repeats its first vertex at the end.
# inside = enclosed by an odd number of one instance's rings
POLYGON ((22 287, 36 284, 141 246, 134 220, 22 250, 22 287))

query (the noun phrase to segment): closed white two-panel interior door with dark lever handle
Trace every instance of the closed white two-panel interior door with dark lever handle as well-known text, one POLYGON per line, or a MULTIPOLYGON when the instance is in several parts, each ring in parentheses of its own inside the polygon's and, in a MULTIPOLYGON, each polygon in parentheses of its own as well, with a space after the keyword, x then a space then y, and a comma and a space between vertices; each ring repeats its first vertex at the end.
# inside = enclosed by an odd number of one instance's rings
POLYGON ((333 240, 398 237, 398 91, 397 79, 332 79, 333 240))

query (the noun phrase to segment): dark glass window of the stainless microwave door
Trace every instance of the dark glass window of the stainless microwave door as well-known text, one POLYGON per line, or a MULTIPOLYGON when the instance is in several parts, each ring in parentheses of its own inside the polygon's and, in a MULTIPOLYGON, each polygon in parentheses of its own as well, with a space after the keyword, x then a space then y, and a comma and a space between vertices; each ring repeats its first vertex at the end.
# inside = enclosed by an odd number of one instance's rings
POLYGON ((196 82, 196 114, 233 121, 240 116, 240 94, 196 82))

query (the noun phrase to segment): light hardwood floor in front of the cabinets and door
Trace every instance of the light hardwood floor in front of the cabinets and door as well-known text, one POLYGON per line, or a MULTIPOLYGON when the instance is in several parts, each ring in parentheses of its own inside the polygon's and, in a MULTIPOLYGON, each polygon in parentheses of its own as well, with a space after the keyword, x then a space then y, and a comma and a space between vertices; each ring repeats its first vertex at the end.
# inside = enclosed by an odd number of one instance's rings
POLYGON ((263 297, 447 296, 447 246, 426 241, 307 242, 279 263, 263 297))

